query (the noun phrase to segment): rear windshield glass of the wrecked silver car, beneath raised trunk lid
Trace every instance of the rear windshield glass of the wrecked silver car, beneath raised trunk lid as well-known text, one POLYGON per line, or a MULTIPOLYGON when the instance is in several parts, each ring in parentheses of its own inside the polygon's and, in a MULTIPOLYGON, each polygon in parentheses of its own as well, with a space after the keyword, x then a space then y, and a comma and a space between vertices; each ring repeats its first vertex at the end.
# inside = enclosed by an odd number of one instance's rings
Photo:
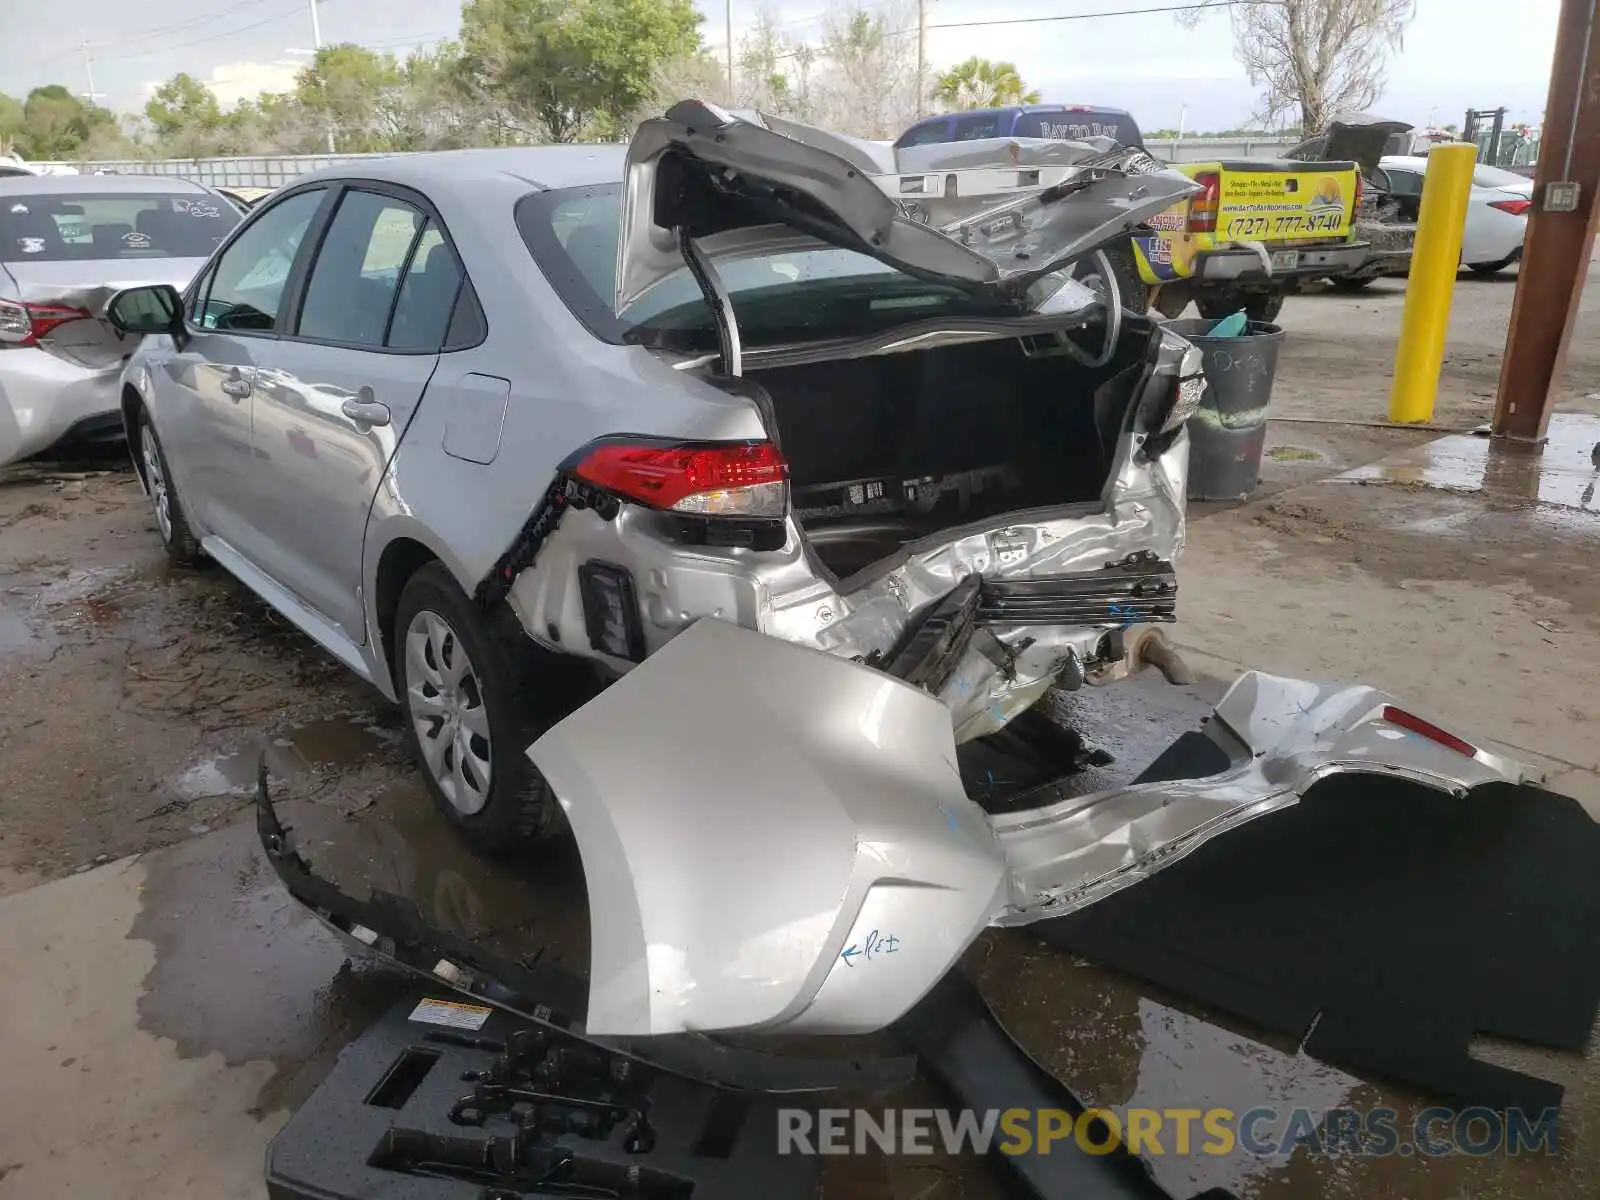
MULTIPOLYGON (((717 349, 710 309, 688 269, 658 283, 621 318, 616 299, 619 187, 536 192, 517 205, 517 227, 550 285, 598 338, 664 349, 717 349)), ((955 288, 915 280, 837 246, 723 261, 747 346, 859 338, 923 317, 973 314, 955 288)))

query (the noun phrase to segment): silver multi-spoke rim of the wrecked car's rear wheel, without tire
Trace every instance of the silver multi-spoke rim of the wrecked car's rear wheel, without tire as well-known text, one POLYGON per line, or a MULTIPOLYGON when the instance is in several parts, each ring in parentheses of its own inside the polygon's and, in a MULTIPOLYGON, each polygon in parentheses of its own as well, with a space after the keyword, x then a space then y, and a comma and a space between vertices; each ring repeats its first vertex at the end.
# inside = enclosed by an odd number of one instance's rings
POLYGON ((493 782, 490 714, 466 645, 432 610, 419 611, 406 629, 405 678, 424 766, 458 811, 482 811, 493 782))

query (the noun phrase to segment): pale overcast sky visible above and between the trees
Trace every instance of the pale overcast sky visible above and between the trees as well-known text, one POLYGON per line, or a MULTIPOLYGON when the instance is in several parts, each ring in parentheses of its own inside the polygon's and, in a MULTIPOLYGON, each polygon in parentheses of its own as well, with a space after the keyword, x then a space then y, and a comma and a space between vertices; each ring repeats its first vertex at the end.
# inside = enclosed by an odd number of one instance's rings
MULTIPOLYGON (((1232 54, 1226 11, 1195 30, 1171 14, 1094 18, 1048 24, 936 29, 992 18, 1059 16, 1158 6, 1173 0, 930 0, 928 61, 968 54, 1011 59, 1045 99, 1131 109, 1147 130, 1243 125, 1254 93, 1232 54)), ((734 43, 763 6, 731 0, 734 43)), ((706 42, 723 43, 723 0, 698 0, 706 42)), ((784 32, 816 37, 830 0, 770 2, 784 32)), ((1405 48, 1389 64, 1389 91, 1376 106, 1418 125, 1459 123, 1469 107, 1506 106, 1539 120, 1555 43, 1558 0, 1419 0, 1405 48)), ((232 104, 258 91, 286 90, 312 43, 309 0, 74 0, 40 21, 40 6, 0 0, 0 91, 22 96, 40 83, 88 90, 80 38, 90 42, 101 102, 126 112, 154 83, 179 70, 205 80, 232 104)), ((406 53, 456 34, 459 0, 322 0, 323 42, 360 42, 406 53)))

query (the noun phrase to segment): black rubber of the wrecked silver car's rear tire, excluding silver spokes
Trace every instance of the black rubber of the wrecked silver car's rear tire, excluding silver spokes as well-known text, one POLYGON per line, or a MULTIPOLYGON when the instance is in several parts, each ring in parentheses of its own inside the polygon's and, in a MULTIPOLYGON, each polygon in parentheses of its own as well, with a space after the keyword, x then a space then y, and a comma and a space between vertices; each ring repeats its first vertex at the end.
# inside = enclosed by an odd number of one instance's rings
MULTIPOLYGON (((451 653, 446 648, 446 661, 451 659, 451 653)), ((510 610, 501 606, 493 614, 485 613, 461 590, 443 565, 429 563, 418 570, 400 592, 390 664, 405 715, 406 744, 416 758, 422 782, 434 803, 461 830, 474 851, 502 858, 554 843, 566 832, 562 806, 526 754, 528 746, 554 720, 555 714, 534 699, 549 698, 552 682, 544 678, 541 670, 544 656, 528 642, 510 610), (458 685, 462 704, 467 709, 474 707, 474 701, 482 704, 486 718, 488 787, 483 792, 486 798, 477 811, 466 811, 477 795, 472 795, 466 806, 451 800, 422 749, 419 722, 432 723, 442 734, 445 722, 443 717, 435 718, 434 714, 422 710, 424 699, 413 693, 413 683, 424 698, 429 691, 440 696, 438 688, 426 677, 419 680, 408 677, 408 630, 419 614, 426 613, 442 618, 450 635, 459 638, 459 648, 466 650, 470 664, 470 675, 462 677, 458 685)), ((477 744, 470 731, 466 738, 470 744, 477 744)), ((443 738, 435 742, 435 747, 438 746, 443 746, 437 750, 443 755, 443 763, 450 763, 451 757, 459 754, 454 744, 445 746, 443 738)), ((474 770, 472 763, 462 768, 467 779, 474 778, 474 770)))

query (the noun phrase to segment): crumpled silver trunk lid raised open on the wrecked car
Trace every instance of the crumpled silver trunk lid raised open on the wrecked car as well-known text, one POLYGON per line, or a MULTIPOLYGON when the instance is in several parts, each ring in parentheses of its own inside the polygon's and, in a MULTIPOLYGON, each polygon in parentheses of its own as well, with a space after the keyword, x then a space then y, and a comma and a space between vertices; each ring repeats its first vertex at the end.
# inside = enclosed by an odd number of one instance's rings
MULTIPOLYGON (((1016 155, 994 166, 1021 168, 1021 144, 1008 144, 1016 155)), ((686 238, 715 262, 792 248, 797 232, 1018 307, 1040 277, 1197 190, 1142 150, 1062 146, 1032 176, 1024 168, 995 203, 974 206, 958 171, 946 173, 934 195, 926 168, 906 173, 914 184, 883 171, 882 147, 683 101, 640 125, 629 146, 616 310, 683 269, 686 238)))

